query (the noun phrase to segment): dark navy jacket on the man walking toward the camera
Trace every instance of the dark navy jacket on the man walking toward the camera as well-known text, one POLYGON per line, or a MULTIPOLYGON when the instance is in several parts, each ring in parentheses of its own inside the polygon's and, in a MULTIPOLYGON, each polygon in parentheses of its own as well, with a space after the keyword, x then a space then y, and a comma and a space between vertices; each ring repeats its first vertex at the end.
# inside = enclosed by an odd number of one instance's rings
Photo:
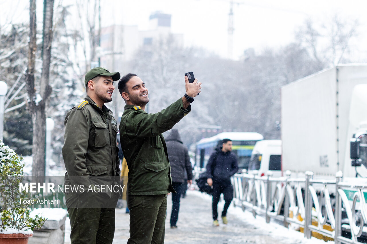
POLYGON ((232 152, 213 152, 210 155, 206 168, 208 178, 212 178, 213 181, 227 181, 238 171, 237 157, 232 152), (216 155, 217 159, 214 163, 213 161, 216 155), (212 171, 213 163, 215 167, 214 171, 212 171))

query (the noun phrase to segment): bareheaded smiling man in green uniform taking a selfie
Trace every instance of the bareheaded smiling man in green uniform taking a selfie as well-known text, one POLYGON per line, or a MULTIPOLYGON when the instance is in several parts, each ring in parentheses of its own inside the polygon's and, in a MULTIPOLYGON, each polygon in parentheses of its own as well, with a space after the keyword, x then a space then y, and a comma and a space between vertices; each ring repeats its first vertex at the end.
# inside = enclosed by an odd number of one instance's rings
POLYGON ((119 92, 126 103, 120 122, 120 141, 129 168, 128 244, 164 243, 167 193, 175 190, 162 133, 190 112, 190 103, 200 92, 200 85, 196 79, 189 83, 185 76, 185 95, 166 109, 148 114, 144 111, 149 102, 148 89, 141 78, 127 74, 119 81, 119 92))

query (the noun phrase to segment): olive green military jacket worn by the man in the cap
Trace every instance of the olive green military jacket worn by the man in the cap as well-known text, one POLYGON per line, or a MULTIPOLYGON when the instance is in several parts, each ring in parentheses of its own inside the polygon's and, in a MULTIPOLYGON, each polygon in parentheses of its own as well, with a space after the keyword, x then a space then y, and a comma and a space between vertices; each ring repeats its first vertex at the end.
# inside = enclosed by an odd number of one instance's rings
MULTIPOLYGON (((87 95, 82 103, 67 112, 64 123, 65 186, 78 186, 84 188, 84 192, 92 186, 95 191, 100 188, 109 197, 116 197, 105 188, 120 185, 118 129, 112 111, 105 105, 99 108, 87 95)), ((65 190, 70 192, 70 189, 65 190)))

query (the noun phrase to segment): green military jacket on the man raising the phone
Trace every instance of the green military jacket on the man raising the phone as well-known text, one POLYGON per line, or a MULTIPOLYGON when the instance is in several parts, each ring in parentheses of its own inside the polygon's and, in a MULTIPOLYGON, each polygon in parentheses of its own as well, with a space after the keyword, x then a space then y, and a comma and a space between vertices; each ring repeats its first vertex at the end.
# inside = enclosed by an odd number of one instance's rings
POLYGON ((126 105, 120 122, 121 147, 129 168, 129 195, 175 192, 163 132, 170 130, 191 110, 182 99, 156 114, 126 105))

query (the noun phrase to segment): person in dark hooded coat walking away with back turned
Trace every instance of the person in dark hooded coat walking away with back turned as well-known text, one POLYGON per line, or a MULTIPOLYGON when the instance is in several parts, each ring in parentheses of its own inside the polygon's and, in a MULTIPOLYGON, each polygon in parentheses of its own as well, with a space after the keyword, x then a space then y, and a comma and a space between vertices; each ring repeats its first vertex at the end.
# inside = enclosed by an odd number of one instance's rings
POLYGON ((168 160, 171 164, 172 186, 176 193, 172 193, 171 228, 177 228, 178 210, 180 207, 181 193, 186 188, 186 181, 192 184, 192 168, 188 149, 183 145, 178 130, 171 129, 171 133, 166 137, 168 160), (186 180, 186 172, 187 180, 186 180))

